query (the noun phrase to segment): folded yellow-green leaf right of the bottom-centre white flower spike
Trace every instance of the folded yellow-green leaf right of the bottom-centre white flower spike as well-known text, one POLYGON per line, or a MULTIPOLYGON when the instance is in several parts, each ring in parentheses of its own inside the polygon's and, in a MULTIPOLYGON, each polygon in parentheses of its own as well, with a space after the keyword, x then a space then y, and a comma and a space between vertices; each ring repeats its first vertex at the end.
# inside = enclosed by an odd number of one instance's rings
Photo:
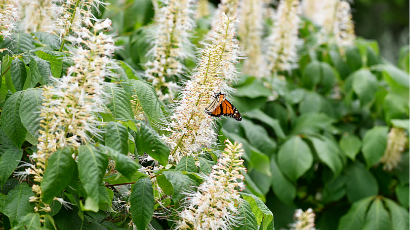
POLYGON ((257 224, 262 227, 260 230, 268 230, 268 227, 273 222, 273 214, 262 200, 253 195, 244 192, 239 192, 242 197, 249 203, 252 213, 255 215, 257 224))

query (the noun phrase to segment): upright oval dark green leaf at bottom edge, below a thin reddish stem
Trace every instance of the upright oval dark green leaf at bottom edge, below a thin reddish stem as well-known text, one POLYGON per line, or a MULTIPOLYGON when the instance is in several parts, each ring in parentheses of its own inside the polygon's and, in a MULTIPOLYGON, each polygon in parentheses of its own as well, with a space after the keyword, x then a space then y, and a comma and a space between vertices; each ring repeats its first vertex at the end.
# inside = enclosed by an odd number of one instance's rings
POLYGON ((150 178, 139 179, 129 197, 134 225, 139 230, 145 230, 154 214, 154 190, 150 178))

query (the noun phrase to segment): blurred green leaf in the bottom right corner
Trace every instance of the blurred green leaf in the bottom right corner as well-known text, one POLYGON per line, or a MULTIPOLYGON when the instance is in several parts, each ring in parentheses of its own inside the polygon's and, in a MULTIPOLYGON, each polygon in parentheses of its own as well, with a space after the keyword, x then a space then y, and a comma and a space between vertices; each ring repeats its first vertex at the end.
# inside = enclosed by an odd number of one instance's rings
MULTIPOLYGON (((407 187, 409 189, 409 187, 407 187)), ((392 224, 394 230, 408 230, 409 229, 409 211, 398 205, 389 198, 383 198, 386 202, 387 208, 390 210, 392 224)))

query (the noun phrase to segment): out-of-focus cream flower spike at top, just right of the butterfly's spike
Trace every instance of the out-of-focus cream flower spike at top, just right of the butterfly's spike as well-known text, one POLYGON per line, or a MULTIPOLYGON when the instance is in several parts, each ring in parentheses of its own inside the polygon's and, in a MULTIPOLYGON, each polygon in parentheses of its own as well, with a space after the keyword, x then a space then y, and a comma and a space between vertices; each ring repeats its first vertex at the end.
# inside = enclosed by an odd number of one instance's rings
POLYGON ((241 2, 239 27, 241 47, 245 50, 247 59, 242 68, 244 74, 263 77, 265 72, 262 57, 263 7, 261 0, 246 0, 241 2))

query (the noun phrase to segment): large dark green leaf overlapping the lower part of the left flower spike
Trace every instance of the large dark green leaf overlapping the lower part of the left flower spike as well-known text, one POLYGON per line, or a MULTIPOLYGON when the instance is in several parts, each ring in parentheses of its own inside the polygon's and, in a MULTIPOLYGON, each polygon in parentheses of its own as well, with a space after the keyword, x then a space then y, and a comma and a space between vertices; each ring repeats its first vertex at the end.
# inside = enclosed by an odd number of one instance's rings
POLYGON ((47 168, 41 182, 43 202, 49 204, 73 178, 76 161, 71 153, 70 148, 61 148, 48 158, 47 168))

